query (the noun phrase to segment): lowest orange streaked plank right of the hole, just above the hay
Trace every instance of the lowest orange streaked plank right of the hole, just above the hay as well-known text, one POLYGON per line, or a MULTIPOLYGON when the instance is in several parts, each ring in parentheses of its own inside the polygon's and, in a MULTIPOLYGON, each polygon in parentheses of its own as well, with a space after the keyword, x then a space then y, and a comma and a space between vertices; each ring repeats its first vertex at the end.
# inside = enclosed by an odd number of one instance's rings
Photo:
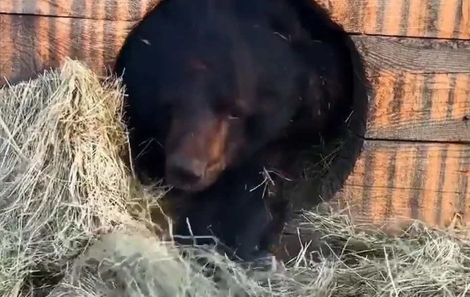
POLYGON ((470 223, 470 145, 366 141, 334 204, 356 223, 418 219, 444 228, 455 212, 470 223))

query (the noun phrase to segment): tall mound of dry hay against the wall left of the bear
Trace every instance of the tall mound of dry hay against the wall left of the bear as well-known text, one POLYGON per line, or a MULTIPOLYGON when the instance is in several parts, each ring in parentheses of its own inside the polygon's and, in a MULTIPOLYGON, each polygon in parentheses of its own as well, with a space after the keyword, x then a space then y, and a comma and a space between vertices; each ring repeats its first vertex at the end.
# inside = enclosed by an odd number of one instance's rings
POLYGON ((100 233, 139 228, 125 210, 122 94, 74 61, 0 90, 0 292, 60 276, 100 233))

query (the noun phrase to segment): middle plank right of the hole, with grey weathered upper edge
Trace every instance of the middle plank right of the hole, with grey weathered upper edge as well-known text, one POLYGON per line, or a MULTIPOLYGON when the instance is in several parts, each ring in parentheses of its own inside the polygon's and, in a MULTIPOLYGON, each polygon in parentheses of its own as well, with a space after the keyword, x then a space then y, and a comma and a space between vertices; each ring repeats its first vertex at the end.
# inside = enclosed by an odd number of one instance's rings
POLYGON ((375 89, 366 137, 470 141, 470 41, 352 39, 375 89))

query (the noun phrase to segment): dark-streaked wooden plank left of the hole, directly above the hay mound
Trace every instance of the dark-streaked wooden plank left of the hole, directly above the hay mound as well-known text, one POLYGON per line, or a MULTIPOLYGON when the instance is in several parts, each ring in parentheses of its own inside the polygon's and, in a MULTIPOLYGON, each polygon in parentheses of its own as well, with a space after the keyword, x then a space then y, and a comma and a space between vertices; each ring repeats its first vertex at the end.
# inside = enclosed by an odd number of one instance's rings
MULTIPOLYGON (((28 79, 67 57, 105 73, 135 21, 0 15, 0 78, 28 79)), ((0 85, 4 81, 0 80, 0 85)))

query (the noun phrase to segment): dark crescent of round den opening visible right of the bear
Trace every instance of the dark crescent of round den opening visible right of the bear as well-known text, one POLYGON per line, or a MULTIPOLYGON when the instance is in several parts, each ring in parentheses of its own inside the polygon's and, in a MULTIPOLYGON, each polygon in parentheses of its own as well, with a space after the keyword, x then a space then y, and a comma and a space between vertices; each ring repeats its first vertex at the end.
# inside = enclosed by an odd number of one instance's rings
MULTIPOLYGON (((340 52, 336 58, 344 67, 342 70, 345 71, 343 73, 345 81, 339 83, 346 87, 347 94, 341 108, 329 118, 327 129, 322 135, 299 133, 302 135, 300 137, 296 135, 295 139, 300 140, 303 149, 296 147, 295 150, 288 152, 290 155, 288 159, 292 161, 289 167, 293 168, 289 171, 294 173, 290 176, 295 181, 283 183, 281 190, 283 197, 292 202, 292 210, 297 212, 301 209, 311 209, 322 200, 330 199, 343 187, 363 146, 369 86, 361 57, 354 43, 348 34, 329 18, 328 13, 313 0, 284 1, 294 8, 313 41, 329 43, 340 52)), ((145 39, 139 42, 149 43, 145 39)), ((125 46, 123 48, 126 51, 125 46)), ((125 55, 123 52, 121 54, 125 55)), ((129 49, 127 54, 131 54, 129 49)), ((316 57, 314 53, 309 58, 322 59, 316 57)), ((315 130, 315 127, 310 128, 311 131, 315 130)), ((153 218, 156 218, 154 221, 158 221, 158 216, 158 214, 153 215, 153 218)))

